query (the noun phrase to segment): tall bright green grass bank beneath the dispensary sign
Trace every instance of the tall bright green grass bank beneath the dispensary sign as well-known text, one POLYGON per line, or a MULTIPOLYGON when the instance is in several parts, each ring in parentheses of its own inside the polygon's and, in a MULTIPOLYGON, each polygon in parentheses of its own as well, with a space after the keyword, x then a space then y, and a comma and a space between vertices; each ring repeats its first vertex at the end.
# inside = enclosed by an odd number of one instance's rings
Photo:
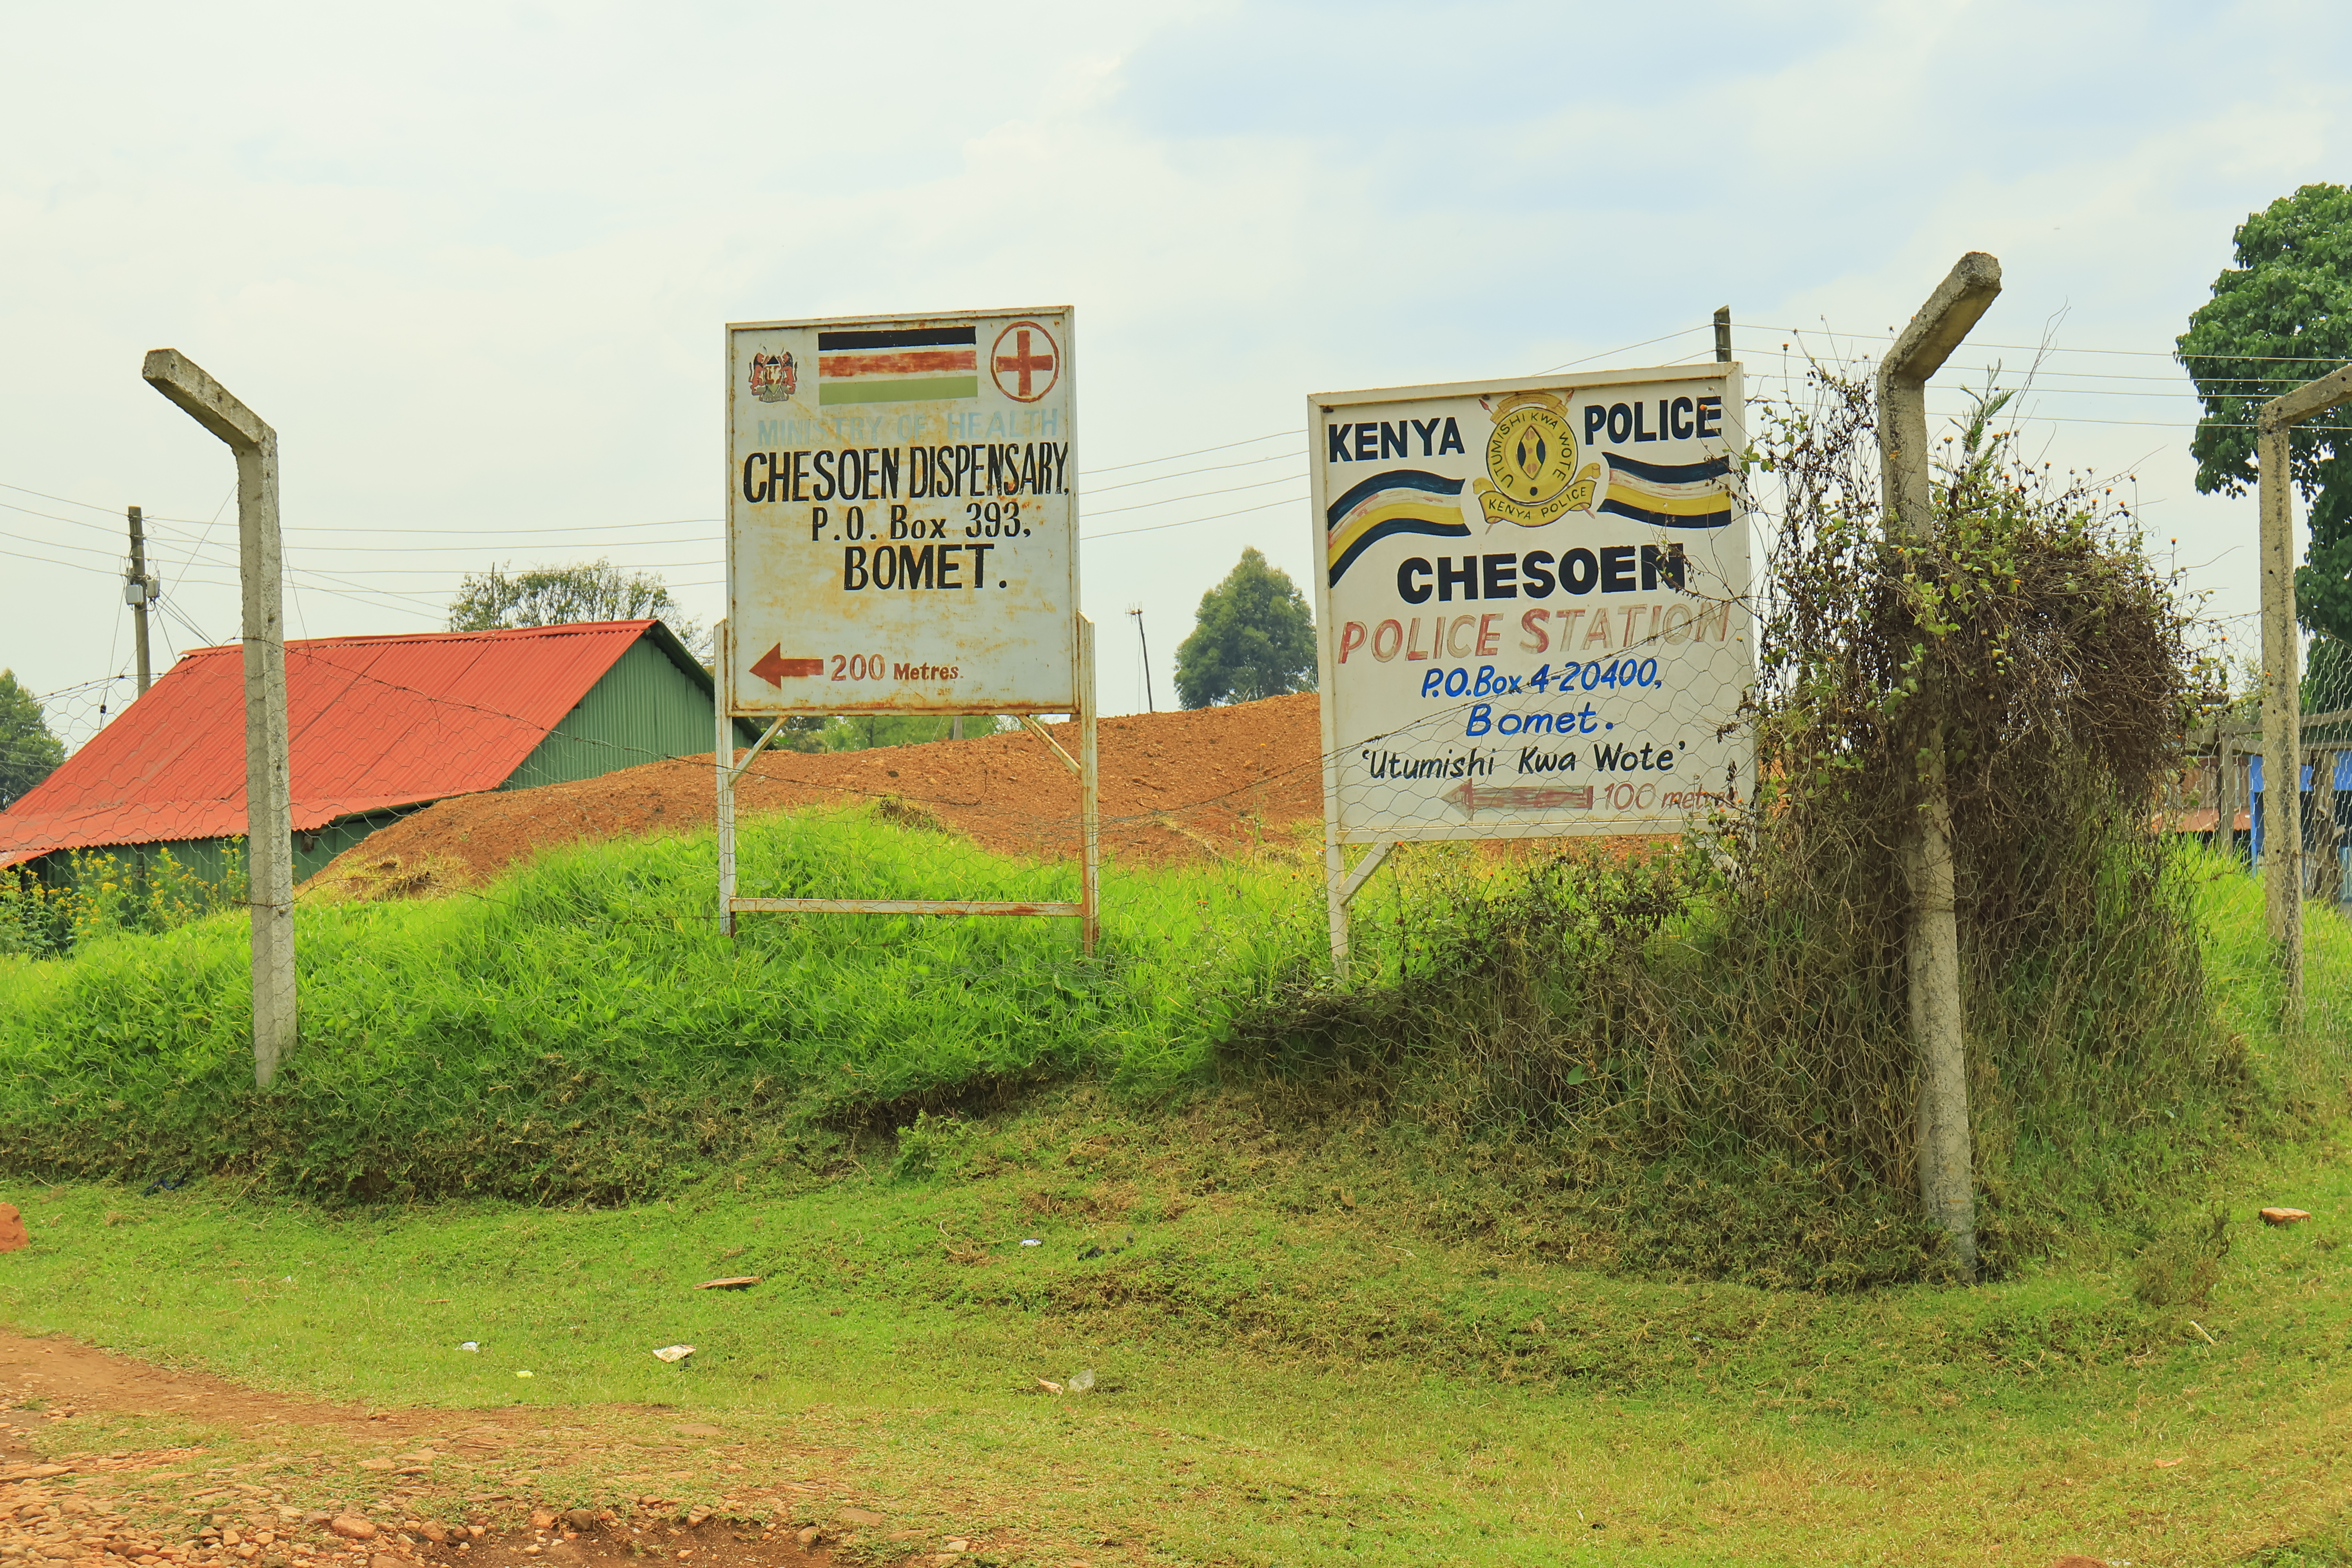
MULTIPOLYGON (((746 893, 1075 896, 1068 865, 866 813, 757 818, 741 865, 746 893)), ((0 959, 0 1166, 644 1194, 793 1157, 811 1119, 1080 1074, 1169 1088, 1319 931, 1279 860, 1112 867, 1096 959, 1068 919, 748 917, 727 940, 713 900, 691 835, 567 849, 477 896, 299 905, 301 1046, 266 1093, 242 922, 0 959)))

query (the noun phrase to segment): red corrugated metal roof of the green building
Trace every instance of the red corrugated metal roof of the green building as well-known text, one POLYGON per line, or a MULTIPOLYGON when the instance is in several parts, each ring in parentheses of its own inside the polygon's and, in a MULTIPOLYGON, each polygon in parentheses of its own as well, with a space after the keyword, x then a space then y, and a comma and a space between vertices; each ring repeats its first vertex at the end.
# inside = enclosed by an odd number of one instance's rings
MULTIPOLYGON (((287 644, 294 827, 496 790, 654 621, 287 644)), ((0 811, 0 865, 245 832, 242 649, 195 649, 0 811)))

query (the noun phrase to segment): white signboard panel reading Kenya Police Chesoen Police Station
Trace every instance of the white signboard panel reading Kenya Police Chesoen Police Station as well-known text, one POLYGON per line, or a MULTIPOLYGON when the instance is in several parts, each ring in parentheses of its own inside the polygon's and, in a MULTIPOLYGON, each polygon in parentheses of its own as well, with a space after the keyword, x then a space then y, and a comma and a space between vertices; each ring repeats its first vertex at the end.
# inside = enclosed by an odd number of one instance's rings
POLYGON ((1752 792, 1736 364, 1308 400, 1338 842, 1679 832, 1752 792))

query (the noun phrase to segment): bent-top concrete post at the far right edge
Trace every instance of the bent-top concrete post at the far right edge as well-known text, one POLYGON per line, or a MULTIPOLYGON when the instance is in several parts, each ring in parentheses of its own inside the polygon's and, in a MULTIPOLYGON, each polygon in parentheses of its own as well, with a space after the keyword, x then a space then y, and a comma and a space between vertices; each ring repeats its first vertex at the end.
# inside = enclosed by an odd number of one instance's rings
POLYGON ((2352 367, 2272 397, 2253 421, 2263 463, 2263 903, 2279 952, 2286 1027, 2303 1023, 2303 654, 2286 433, 2345 402, 2352 402, 2352 367))

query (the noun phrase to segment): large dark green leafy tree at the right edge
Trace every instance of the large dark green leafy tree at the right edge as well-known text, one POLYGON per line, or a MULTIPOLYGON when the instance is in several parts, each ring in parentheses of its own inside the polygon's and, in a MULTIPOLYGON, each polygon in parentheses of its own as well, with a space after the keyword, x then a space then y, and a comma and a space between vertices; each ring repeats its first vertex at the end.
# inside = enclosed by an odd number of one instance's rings
MULTIPOLYGON (((2190 444, 2197 489, 2241 496, 2258 480, 2260 407, 2352 360, 2352 190, 2303 186, 2251 214, 2234 237, 2237 266, 2213 280, 2213 299, 2190 315, 2176 353, 2204 400, 2190 444)), ((2312 524, 2296 618, 2321 637, 2314 675, 2352 670, 2352 440, 2343 423, 2319 418, 2288 435, 2288 473, 2312 524)))

